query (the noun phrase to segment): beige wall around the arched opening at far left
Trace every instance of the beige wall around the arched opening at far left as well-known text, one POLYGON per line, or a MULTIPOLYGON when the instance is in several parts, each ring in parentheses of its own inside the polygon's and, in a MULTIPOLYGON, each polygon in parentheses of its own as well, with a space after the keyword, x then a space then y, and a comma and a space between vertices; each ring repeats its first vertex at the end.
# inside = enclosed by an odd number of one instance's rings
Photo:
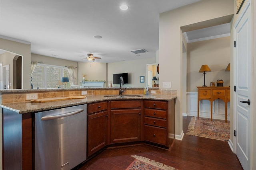
POLYGON ((30 44, 0 38, 0 48, 22 56, 22 89, 30 88, 30 44))

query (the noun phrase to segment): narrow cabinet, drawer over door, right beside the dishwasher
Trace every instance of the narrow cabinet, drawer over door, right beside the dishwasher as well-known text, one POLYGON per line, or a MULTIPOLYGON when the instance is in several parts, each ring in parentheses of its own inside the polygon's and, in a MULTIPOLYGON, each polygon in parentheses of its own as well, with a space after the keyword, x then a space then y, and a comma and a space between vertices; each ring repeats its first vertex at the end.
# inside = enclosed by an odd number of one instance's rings
POLYGON ((107 102, 88 104, 87 107, 87 156, 92 155, 107 145, 108 110, 107 102))

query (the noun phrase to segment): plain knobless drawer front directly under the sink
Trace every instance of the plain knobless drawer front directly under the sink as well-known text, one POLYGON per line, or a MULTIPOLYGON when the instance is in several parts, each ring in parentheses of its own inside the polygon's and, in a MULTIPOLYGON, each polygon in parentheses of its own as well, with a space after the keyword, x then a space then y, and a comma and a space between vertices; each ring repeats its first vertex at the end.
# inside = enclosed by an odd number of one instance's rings
POLYGON ((140 100, 122 100, 122 101, 111 101, 111 109, 120 109, 120 108, 140 108, 140 100))

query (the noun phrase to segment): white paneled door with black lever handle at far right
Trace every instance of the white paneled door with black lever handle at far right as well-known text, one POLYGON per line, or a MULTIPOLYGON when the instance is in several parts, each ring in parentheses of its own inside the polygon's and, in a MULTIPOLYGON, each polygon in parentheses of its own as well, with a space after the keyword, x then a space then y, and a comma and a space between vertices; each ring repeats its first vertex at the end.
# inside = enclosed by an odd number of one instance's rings
POLYGON ((251 6, 247 3, 234 25, 234 149, 244 170, 250 170, 251 154, 251 35, 251 6))

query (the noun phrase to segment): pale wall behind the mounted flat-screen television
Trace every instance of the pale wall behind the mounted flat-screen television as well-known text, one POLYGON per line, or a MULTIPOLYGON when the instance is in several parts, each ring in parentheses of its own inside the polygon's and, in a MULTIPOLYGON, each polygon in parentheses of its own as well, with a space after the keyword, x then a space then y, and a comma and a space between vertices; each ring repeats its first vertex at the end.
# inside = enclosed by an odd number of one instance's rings
MULTIPOLYGON (((113 74, 128 72, 128 82, 124 86, 146 87, 146 64, 156 63, 156 58, 138 59, 108 63, 108 84, 113 81, 113 74), (140 83, 140 76, 145 76, 145 82, 140 83)), ((119 86, 119 84, 115 84, 119 86)))

